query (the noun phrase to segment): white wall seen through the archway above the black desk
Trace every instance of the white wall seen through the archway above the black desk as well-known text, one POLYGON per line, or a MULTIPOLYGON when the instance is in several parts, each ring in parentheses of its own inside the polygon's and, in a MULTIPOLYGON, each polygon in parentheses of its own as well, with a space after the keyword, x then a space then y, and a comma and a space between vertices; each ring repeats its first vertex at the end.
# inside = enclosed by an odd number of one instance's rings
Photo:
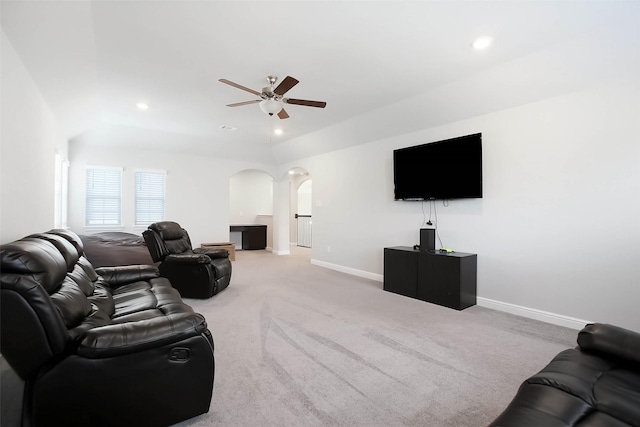
POLYGON ((245 170, 229 180, 230 224, 256 224, 258 215, 273 215, 273 178, 245 170))

